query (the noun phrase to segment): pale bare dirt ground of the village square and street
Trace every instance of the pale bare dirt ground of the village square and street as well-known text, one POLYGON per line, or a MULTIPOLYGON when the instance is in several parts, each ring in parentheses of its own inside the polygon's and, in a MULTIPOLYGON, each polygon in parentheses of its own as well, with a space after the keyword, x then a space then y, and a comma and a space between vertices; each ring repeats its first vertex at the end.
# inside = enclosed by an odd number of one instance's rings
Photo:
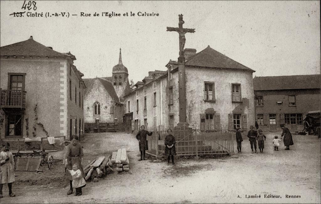
MULTIPOLYGON (((80 197, 66 195, 67 181, 60 187, 17 182, 13 184, 17 196, 8 197, 5 186, 1 203, 320 203, 320 139, 293 135, 290 151, 284 150, 282 142, 280 151, 273 151, 273 137, 280 133, 265 135, 263 154, 252 154, 243 135, 243 154, 236 154, 238 157, 177 159, 175 166, 167 166, 160 160, 138 161, 134 135, 88 134, 82 140, 86 162, 99 154, 126 148, 130 171, 111 173, 97 183, 88 182, 80 197), (264 198, 270 194, 281 198, 264 198)), ((52 171, 52 176, 62 177, 58 172, 63 172, 63 165, 54 167, 58 169, 52 171)))

